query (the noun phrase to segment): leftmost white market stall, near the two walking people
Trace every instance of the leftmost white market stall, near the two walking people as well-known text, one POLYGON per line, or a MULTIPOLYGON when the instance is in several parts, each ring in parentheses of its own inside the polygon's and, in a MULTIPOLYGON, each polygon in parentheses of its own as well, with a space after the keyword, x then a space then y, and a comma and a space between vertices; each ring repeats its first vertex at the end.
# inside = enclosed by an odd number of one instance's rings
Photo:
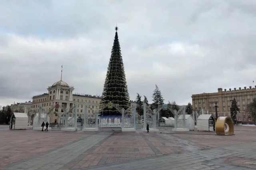
POLYGON ((13 113, 10 119, 10 129, 28 129, 28 115, 26 113, 13 113))

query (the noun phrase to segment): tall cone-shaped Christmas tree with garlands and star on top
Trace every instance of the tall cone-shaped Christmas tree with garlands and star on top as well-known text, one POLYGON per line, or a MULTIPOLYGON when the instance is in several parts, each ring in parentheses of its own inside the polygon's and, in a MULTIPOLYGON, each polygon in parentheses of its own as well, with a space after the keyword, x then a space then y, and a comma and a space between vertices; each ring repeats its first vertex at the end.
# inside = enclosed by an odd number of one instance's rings
POLYGON ((112 104, 118 104, 119 107, 124 108, 125 110, 130 106, 130 98, 124 73, 124 63, 117 34, 118 27, 116 27, 115 30, 116 35, 100 102, 102 108, 100 114, 103 116, 122 115, 122 113, 118 112, 115 107, 108 108, 106 106, 106 104, 109 104, 110 102, 112 104))

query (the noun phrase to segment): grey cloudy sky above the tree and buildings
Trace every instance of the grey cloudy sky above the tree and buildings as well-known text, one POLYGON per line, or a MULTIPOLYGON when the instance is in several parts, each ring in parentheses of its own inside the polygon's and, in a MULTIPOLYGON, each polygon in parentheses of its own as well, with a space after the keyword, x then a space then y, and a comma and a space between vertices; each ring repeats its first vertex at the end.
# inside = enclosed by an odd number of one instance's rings
MULTIPOLYGON (((60 80, 101 94, 116 23, 130 99, 256 81, 256 0, 0 0, 0 105, 60 80)), ((256 83, 254 84, 256 85, 256 83)))

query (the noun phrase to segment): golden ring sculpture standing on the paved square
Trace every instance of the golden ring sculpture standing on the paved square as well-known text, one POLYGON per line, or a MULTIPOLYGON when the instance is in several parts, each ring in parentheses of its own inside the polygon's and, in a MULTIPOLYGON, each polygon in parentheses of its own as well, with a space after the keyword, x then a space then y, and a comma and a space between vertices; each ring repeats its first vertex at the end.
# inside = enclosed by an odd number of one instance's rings
POLYGON ((220 116, 216 121, 216 134, 217 135, 233 135, 234 124, 232 119, 228 116, 220 116))

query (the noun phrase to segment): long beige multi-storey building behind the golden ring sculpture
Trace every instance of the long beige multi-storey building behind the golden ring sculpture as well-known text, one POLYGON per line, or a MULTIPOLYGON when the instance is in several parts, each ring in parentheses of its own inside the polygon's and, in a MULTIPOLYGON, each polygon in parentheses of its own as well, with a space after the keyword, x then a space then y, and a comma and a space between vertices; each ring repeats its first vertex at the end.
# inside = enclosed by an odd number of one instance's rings
POLYGON ((253 118, 250 113, 246 112, 247 104, 250 104, 254 98, 256 98, 256 86, 252 88, 238 89, 224 89, 218 88, 218 92, 215 93, 202 93, 192 95, 192 106, 194 110, 201 110, 202 108, 208 110, 209 114, 215 115, 215 105, 217 105, 218 116, 230 116, 230 106, 233 98, 236 99, 240 113, 236 115, 238 122, 253 122, 253 118))

